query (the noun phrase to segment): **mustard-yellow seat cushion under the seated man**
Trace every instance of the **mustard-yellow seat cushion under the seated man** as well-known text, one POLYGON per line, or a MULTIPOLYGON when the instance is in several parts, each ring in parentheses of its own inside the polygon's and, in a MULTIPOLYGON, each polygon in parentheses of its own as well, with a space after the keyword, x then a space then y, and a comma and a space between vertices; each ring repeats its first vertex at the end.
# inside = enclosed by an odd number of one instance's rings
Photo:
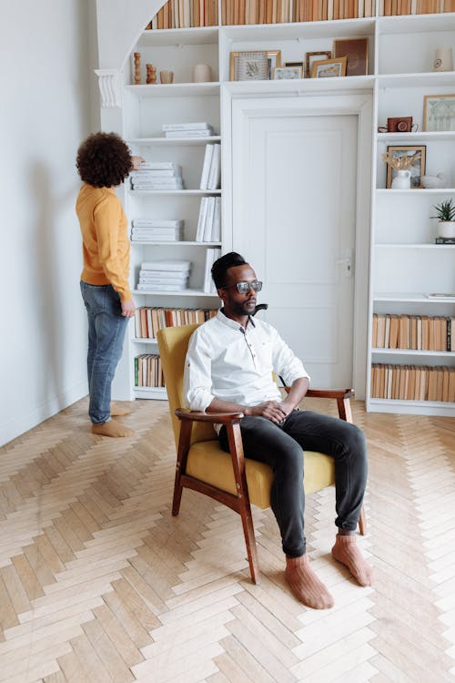
MULTIPOLYGON (((270 507, 272 469, 268 464, 245 458, 250 503, 262 510, 270 507)), ((236 494, 236 481, 230 454, 222 451, 217 441, 193 443, 187 460, 187 474, 236 494)), ((329 455, 305 451, 305 493, 311 494, 335 484, 334 460, 329 455)))

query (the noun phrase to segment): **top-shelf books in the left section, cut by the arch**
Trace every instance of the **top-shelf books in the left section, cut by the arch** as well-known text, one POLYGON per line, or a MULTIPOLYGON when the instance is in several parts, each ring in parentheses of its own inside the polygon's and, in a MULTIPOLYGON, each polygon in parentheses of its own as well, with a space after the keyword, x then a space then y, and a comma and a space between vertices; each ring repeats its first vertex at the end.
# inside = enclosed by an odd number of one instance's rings
POLYGON ((147 29, 189 28, 216 26, 218 23, 218 0, 168 0, 157 15, 147 24, 147 29))

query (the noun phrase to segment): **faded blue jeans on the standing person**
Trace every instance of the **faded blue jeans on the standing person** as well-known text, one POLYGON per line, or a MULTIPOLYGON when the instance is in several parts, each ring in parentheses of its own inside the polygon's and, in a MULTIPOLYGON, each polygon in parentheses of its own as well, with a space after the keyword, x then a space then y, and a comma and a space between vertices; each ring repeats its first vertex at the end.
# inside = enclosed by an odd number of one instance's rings
POLYGON ((88 315, 87 373, 92 423, 110 420, 111 383, 122 355, 126 325, 120 296, 112 285, 90 285, 81 281, 88 315))

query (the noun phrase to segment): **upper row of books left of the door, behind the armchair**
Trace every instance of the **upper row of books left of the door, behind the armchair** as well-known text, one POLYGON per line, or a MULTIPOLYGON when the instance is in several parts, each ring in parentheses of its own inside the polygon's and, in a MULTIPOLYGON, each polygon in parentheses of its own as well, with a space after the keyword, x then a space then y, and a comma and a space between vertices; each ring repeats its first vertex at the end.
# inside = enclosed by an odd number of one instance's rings
POLYGON ((140 306, 135 313, 137 339, 156 339, 157 331, 165 327, 193 325, 205 322, 217 315, 211 309, 163 309, 154 306, 140 306))

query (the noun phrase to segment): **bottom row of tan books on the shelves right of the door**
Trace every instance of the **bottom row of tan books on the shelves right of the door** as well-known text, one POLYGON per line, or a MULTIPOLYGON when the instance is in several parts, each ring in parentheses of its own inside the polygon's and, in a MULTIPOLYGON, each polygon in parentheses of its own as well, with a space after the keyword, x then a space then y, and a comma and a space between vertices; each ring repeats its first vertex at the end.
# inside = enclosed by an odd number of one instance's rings
POLYGON ((454 403, 455 367, 373 363, 371 398, 454 403))

